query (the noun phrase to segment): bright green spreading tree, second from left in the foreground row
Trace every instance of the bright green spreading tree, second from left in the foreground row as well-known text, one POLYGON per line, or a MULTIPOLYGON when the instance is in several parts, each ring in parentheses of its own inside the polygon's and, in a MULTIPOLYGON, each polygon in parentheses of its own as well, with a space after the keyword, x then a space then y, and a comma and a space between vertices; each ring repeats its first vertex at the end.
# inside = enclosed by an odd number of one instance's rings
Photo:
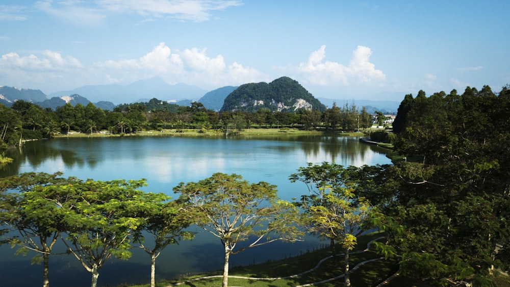
POLYGON ((129 259, 130 236, 146 220, 150 202, 143 200, 137 188, 145 180, 80 181, 55 188, 67 190, 75 199, 66 210, 64 222, 68 236, 67 250, 92 274, 91 286, 97 285, 99 269, 111 256, 129 259))

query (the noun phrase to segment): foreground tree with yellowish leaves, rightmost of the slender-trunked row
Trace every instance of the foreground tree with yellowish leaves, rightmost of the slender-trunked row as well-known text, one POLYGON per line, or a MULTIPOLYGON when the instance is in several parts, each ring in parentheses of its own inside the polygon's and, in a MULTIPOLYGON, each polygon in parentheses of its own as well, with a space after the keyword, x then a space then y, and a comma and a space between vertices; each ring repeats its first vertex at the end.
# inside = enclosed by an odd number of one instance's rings
POLYGON ((344 169, 335 163, 309 163, 290 176, 292 182, 307 184, 309 194, 301 197, 300 206, 307 213, 309 231, 330 240, 334 258, 335 242, 344 248, 345 286, 350 286, 349 251, 356 246, 356 236, 369 224, 372 209, 369 202, 354 193, 360 183, 350 173, 357 171, 354 166, 344 169))

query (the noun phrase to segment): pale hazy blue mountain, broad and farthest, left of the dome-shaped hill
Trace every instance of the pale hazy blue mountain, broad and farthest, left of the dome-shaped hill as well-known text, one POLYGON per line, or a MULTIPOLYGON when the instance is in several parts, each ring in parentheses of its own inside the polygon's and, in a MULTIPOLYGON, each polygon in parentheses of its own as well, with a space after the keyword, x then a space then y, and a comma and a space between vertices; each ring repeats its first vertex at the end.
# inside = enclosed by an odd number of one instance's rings
POLYGON ((50 97, 63 97, 64 95, 80 94, 92 102, 109 101, 114 104, 138 102, 139 99, 183 100, 198 99, 207 90, 183 83, 170 85, 159 77, 139 80, 129 85, 89 85, 68 91, 59 91, 49 94, 50 97))

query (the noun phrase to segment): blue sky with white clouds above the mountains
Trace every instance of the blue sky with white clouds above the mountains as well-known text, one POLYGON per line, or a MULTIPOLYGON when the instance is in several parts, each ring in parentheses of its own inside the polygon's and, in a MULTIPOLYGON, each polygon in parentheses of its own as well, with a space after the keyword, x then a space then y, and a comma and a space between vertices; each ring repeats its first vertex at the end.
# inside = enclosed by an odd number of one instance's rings
POLYGON ((510 83, 510 1, 3 0, 0 85, 46 94, 161 77, 282 76, 316 98, 401 101, 510 83))

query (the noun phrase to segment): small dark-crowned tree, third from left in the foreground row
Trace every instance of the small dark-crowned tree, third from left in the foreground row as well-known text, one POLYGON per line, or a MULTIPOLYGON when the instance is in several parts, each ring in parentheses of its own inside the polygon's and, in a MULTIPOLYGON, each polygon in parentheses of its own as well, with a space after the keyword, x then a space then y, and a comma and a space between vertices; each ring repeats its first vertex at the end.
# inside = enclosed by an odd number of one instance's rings
POLYGON ((177 244, 180 240, 191 240, 193 233, 184 230, 192 223, 192 219, 183 209, 186 207, 179 201, 164 202, 170 199, 164 194, 144 194, 143 201, 148 206, 146 222, 138 228, 134 234, 134 242, 140 244, 150 256, 150 286, 156 285, 156 258, 161 251, 170 244, 177 244), (152 247, 147 246, 145 242, 145 231, 154 239, 152 247))

